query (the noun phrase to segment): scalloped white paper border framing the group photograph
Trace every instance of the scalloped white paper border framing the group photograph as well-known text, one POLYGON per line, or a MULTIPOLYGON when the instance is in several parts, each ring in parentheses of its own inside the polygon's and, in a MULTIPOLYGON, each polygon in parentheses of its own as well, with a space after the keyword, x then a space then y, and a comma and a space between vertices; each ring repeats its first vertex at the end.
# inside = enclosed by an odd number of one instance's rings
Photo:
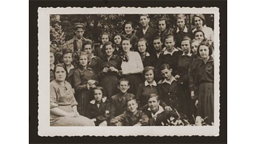
POLYGON ((38 135, 40 136, 218 136, 219 135, 219 67, 220 28, 218 7, 39 7, 38 8, 38 135), (214 126, 50 126, 50 14, 160 14, 213 13, 214 14, 214 126))

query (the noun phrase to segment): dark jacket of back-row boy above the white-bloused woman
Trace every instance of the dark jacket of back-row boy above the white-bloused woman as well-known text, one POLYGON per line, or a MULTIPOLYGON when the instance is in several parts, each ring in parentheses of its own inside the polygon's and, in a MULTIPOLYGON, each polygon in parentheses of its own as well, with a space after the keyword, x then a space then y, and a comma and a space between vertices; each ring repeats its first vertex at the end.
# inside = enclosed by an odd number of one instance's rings
POLYGON ((148 27, 147 31, 145 34, 143 34, 143 30, 142 29, 139 29, 136 31, 136 34, 135 34, 139 39, 144 37, 147 39, 147 42, 148 42, 148 49, 147 51, 149 53, 153 53, 154 52, 154 46, 153 46, 153 38, 155 36, 157 36, 157 31, 151 27, 148 27))

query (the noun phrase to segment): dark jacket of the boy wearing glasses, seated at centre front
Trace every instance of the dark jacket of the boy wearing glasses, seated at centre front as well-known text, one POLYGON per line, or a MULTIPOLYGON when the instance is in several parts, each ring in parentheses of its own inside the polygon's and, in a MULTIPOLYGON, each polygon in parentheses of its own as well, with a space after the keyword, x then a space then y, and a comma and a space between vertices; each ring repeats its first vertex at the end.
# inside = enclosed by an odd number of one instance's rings
POLYGON ((135 98, 135 96, 131 93, 125 93, 124 96, 122 96, 122 93, 113 95, 110 99, 111 108, 109 119, 121 115, 126 110, 126 103, 130 98, 135 98))

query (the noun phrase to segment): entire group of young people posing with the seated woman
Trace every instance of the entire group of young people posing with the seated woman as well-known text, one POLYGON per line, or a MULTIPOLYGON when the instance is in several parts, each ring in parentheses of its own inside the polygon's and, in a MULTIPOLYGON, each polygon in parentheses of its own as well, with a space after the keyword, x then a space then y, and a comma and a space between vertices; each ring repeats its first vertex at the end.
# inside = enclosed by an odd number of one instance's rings
POLYGON ((114 34, 111 42, 102 33, 98 47, 83 37, 84 25, 77 23, 63 63, 54 65, 50 51, 50 125, 162 125, 180 115, 190 123, 199 115, 212 125, 213 30, 203 14, 194 15, 193 30, 185 26, 184 14, 176 18, 174 31, 165 18, 155 30, 149 16, 141 14, 140 30, 134 33, 133 23, 126 21, 124 34, 114 34))

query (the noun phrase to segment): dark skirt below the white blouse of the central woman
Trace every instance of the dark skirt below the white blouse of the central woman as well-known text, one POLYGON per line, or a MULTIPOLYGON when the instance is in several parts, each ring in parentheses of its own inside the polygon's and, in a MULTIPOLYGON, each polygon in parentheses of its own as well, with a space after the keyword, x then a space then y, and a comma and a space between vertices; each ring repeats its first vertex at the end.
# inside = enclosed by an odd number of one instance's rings
POLYGON ((126 75, 124 78, 128 79, 130 85, 130 89, 127 92, 137 95, 138 86, 143 83, 141 74, 126 75))

